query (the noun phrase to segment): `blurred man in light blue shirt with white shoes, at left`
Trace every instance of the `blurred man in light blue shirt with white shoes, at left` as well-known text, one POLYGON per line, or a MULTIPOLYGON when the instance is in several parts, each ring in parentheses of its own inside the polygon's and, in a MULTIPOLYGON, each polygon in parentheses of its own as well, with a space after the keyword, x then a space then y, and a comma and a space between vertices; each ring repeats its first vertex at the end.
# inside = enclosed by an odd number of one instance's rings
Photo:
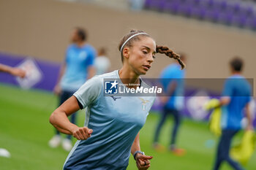
MULTIPOLYGON (((59 96, 59 105, 71 97, 86 80, 94 76, 94 47, 86 42, 86 31, 83 28, 75 28, 71 34, 72 44, 67 47, 66 57, 61 66, 59 79, 54 88, 54 93, 59 96)), ((75 124, 76 114, 71 116, 71 122, 75 124)), ((72 149, 72 136, 62 141, 64 150, 72 149)), ((56 135, 49 141, 50 147, 58 147, 61 143, 61 135, 56 130, 56 135)))

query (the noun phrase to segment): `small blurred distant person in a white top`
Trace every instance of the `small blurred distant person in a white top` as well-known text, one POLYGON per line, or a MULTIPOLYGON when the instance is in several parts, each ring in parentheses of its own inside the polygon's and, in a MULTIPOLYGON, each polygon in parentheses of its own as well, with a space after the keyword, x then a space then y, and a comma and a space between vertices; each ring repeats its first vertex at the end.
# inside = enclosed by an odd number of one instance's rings
POLYGON ((110 60, 106 55, 106 49, 104 47, 98 50, 98 56, 95 59, 94 66, 96 74, 104 74, 110 71, 110 60))

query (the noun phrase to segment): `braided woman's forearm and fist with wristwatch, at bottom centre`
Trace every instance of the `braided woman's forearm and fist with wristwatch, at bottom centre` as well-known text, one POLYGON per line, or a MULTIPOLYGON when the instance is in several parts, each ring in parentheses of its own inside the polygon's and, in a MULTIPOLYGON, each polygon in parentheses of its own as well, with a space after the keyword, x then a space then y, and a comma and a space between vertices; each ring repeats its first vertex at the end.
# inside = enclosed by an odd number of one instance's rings
MULTIPOLYGON (((135 154, 136 151, 140 151, 140 132, 135 137, 135 141, 132 144, 131 153, 135 154)), ((138 169, 148 169, 150 167, 150 159, 152 156, 142 155, 141 153, 137 153, 135 155, 135 161, 138 169)))

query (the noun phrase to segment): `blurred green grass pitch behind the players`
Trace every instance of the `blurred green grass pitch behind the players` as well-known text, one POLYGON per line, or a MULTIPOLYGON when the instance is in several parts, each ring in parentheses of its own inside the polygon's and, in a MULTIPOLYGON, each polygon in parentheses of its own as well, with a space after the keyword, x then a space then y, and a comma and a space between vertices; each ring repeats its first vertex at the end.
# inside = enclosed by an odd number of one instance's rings
MULTIPOLYGON (((57 98, 40 90, 21 90, 0 85, 0 148, 10 151, 11 158, 0 157, 1 170, 57 170, 61 169, 68 152, 61 147, 52 149, 48 141, 53 136, 53 126, 48 122, 56 108, 57 98)), ((78 115, 83 125, 84 112, 78 115)), ((152 150, 151 142, 159 117, 148 116, 140 131, 140 147, 146 155, 152 155, 151 170, 207 170, 212 169, 217 138, 208 131, 207 123, 184 119, 178 136, 178 146, 187 150, 187 155, 177 157, 165 150, 152 150)), ((167 120, 160 142, 167 147, 170 141, 171 119, 167 120)), ((241 135, 240 135, 241 136, 241 135)), ((238 142, 239 135, 235 142, 238 142)), ((75 142, 75 139, 73 140, 75 142)), ((256 169, 256 154, 245 168, 256 169)), ((136 169, 132 156, 128 170, 136 169)), ((222 170, 231 169, 226 163, 222 170)))

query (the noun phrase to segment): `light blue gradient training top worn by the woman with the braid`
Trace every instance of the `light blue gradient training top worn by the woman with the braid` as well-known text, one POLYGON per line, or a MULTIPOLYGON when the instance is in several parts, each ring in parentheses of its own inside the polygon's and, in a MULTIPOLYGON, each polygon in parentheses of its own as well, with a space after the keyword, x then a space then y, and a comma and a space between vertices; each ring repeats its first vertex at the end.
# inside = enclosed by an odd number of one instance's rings
MULTIPOLYGON (((155 96, 104 96, 104 78, 118 81, 118 70, 91 78, 74 94, 86 108, 84 125, 93 133, 75 143, 64 170, 127 169, 132 143, 146 122, 155 96)), ((148 86, 143 81, 140 85, 148 86)))

